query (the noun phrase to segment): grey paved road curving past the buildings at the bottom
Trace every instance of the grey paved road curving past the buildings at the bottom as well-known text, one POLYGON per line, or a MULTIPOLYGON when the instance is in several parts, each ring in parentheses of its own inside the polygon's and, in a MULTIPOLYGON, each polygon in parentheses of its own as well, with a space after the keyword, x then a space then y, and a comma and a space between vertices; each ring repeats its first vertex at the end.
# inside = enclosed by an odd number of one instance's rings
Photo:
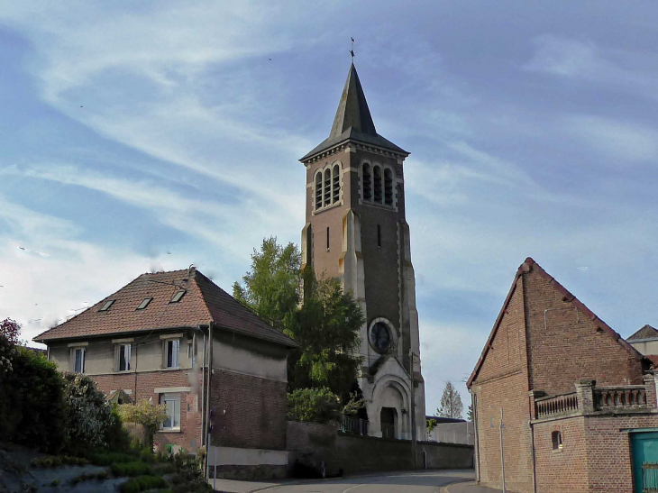
POLYGON ((439 493, 442 486, 473 479, 472 470, 398 472, 377 476, 315 479, 263 489, 263 493, 439 493))

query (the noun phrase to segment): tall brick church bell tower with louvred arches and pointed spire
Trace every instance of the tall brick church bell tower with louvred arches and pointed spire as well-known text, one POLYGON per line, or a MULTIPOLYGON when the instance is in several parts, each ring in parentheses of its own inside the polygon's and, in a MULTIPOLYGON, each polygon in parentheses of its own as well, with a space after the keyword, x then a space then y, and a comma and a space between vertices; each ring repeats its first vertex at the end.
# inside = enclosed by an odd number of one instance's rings
POLYGON ((425 382, 405 218, 408 155, 375 130, 352 63, 329 137, 300 160, 306 167, 302 262, 318 277, 339 278, 366 316, 359 385, 369 433, 411 438, 413 407, 422 440, 425 382))

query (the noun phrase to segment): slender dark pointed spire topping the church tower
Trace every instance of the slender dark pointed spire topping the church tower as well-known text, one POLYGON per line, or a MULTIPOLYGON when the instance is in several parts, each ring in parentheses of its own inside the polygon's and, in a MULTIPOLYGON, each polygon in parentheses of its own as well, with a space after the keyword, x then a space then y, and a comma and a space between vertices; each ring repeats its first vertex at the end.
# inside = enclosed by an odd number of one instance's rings
POLYGON ((336 110, 334 125, 332 126, 332 132, 329 134, 329 138, 338 137, 350 127, 358 132, 372 135, 373 137, 377 136, 375 123, 372 122, 368 102, 366 101, 366 96, 363 94, 363 87, 361 87, 361 81, 359 80, 359 75, 356 73, 353 62, 350 72, 347 74, 343 96, 341 96, 341 102, 338 104, 338 110, 336 110))

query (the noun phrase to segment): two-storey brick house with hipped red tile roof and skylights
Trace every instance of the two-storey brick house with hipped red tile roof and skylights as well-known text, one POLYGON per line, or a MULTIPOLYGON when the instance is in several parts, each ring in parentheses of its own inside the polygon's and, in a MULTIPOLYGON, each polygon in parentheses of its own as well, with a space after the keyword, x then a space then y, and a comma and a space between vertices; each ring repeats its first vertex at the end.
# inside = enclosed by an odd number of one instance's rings
POLYGON ((108 397, 164 404, 155 443, 193 451, 211 434, 208 461, 224 476, 285 473, 287 353, 297 343, 198 270, 142 274, 34 341, 108 397))

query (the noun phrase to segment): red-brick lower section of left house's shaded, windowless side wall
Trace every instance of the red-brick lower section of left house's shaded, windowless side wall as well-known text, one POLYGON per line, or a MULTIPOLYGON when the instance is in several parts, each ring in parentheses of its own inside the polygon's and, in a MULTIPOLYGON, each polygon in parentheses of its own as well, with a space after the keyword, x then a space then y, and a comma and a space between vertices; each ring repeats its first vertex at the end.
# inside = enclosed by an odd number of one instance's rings
POLYGON ((285 382, 215 369, 211 385, 213 445, 286 448, 285 382))

